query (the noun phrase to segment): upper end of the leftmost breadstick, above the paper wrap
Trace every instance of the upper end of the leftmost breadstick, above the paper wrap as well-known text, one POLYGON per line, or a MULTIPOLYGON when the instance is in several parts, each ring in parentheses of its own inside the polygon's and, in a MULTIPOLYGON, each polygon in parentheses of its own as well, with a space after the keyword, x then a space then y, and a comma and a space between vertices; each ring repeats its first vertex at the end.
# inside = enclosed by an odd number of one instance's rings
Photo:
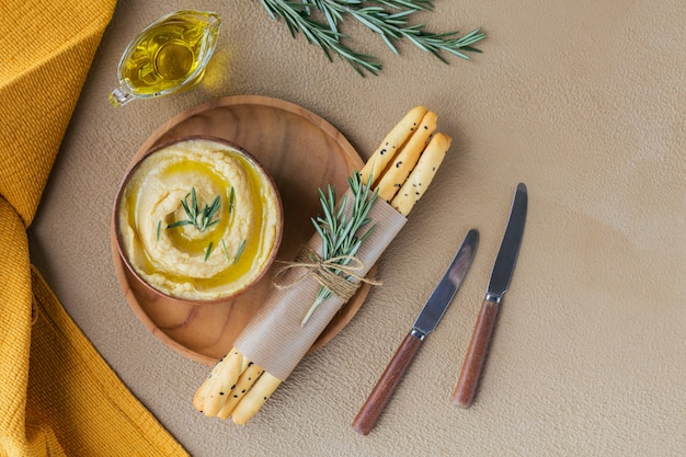
POLYGON ((359 172, 363 184, 374 187, 374 184, 378 182, 384 170, 386 170, 390 161, 396 157, 396 153, 398 153, 402 145, 410 138, 412 132, 416 129, 416 126, 427 111, 425 106, 413 107, 396 124, 388 135, 386 135, 384 141, 381 141, 359 172), (369 182, 370 178, 371 182, 369 182))

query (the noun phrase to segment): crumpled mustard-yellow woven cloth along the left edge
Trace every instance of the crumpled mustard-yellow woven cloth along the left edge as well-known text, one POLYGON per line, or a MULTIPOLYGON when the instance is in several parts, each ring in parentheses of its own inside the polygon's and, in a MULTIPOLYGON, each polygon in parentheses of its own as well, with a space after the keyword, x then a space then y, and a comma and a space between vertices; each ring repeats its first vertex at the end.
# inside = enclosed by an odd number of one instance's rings
POLYGON ((0 456, 185 456, 31 266, 26 228, 115 0, 0 2, 0 456))

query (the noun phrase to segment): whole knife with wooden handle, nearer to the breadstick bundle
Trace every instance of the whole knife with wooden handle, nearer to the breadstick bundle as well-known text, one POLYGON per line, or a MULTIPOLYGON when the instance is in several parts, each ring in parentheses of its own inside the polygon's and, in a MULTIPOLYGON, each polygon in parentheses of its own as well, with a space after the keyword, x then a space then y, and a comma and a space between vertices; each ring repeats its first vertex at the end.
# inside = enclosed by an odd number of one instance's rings
POLYGON ((353 429, 357 433, 367 435, 376 425, 391 395, 400 384, 400 379, 410 367, 421 343, 436 328, 448 305, 453 301, 457 289, 462 284, 478 241, 479 232, 475 229, 469 230, 450 266, 424 304, 412 329, 396 351, 386 370, 369 393, 367 401, 353 421, 353 429))

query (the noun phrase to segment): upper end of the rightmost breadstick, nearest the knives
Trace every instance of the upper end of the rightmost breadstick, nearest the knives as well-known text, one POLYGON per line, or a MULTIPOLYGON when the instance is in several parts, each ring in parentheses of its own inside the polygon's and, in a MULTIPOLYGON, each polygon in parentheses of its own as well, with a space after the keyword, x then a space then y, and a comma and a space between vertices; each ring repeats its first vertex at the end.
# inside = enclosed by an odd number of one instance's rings
POLYGON ((443 158, 445 157, 450 141, 453 139, 442 133, 434 135, 431 139, 422 157, 416 162, 416 167, 408 176, 408 180, 402 185, 398 195, 391 201, 391 206, 403 216, 408 216, 412 210, 414 204, 422 197, 426 187, 434 179, 436 170, 441 165, 443 158))

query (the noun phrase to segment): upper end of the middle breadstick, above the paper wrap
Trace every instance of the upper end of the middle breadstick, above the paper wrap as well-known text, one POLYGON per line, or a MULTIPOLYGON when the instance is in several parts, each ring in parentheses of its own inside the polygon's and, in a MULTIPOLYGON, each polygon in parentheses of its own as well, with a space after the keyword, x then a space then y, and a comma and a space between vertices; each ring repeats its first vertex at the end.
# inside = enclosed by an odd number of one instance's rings
MULTIPOLYGON (((426 142, 436 129, 438 116, 433 111, 427 112, 419 128, 412 134, 405 146, 396 156, 392 163, 388 167, 378 184, 379 198, 390 202, 398 190, 405 182, 410 172, 416 164, 422 151, 426 147, 426 142)), ((363 181, 364 182, 364 181, 363 181)))

